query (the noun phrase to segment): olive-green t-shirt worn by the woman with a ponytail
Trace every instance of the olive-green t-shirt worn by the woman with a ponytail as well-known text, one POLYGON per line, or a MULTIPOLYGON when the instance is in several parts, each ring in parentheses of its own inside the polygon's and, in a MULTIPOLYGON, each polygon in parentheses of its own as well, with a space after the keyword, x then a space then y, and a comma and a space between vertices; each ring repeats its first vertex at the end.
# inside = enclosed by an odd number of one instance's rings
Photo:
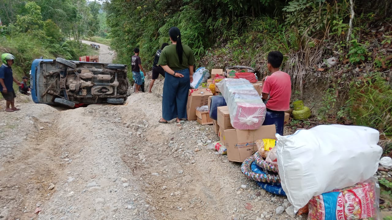
POLYGON ((183 44, 182 49, 182 63, 178 60, 176 44, 172 44, 163 48, 158 65, 168 65, 172 70, 188 69, 190 65, 195 65, 196 60, 191 48, 188 45, 183 44))

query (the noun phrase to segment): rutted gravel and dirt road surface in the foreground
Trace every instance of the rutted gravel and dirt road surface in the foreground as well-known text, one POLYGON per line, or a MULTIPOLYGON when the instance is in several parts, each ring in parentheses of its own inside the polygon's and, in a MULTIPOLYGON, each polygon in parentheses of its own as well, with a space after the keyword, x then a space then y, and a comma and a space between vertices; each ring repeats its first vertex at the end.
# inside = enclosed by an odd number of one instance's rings
POLYGON ((18 96, 20 111, 0 111, 0 220, 303 218, 278 215, 287 200, 207 149, 212 126, 158 123, 162 82, 125 105, 65 110, 18 96))

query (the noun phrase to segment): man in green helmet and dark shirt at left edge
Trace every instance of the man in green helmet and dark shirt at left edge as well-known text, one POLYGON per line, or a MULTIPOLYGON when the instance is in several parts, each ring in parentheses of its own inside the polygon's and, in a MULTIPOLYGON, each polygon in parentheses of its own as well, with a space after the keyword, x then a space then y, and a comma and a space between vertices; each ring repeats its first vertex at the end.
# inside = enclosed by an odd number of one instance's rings
POLYGON ((5 111, 14 112, 20 109, 15 107, 15 91, 12 87, 13 82, 20 86, 20 82, 12 76, 11 66, 14 63, 15 56, 12 54, 2 54, 1 60, 3 65, 0 67, 0 93, 5 99, 5 111), (11 108, 10 108, 11 105, 11 108))

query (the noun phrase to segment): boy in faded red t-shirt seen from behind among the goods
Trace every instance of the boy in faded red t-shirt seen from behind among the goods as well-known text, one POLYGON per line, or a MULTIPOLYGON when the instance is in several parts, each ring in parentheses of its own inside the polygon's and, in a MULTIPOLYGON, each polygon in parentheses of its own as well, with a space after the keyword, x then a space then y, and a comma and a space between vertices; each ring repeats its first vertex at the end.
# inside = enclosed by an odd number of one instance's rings
POLYGON ((267 67, 271 75, 263 78, 261 90, 262 99, 267 107, 263 125, 275 124, 276 133, 283 135, 285 111, 290 109, 291 79, 289 74, 279 70, 283 61, 281 52, 269 52, 267 60, 267 67), (269 100, 267 100, 268 96, 269 100))

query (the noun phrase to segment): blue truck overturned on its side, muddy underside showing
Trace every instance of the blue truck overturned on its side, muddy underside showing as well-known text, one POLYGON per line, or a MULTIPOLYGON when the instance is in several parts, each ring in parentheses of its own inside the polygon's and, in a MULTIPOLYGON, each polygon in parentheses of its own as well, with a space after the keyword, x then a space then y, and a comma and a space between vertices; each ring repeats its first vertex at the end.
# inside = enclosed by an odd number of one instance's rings
POLYGON ((31 65, 31 95, 34 103, 122 104, 130 95, 127 66, 56 60, 36 59, 31 65))

